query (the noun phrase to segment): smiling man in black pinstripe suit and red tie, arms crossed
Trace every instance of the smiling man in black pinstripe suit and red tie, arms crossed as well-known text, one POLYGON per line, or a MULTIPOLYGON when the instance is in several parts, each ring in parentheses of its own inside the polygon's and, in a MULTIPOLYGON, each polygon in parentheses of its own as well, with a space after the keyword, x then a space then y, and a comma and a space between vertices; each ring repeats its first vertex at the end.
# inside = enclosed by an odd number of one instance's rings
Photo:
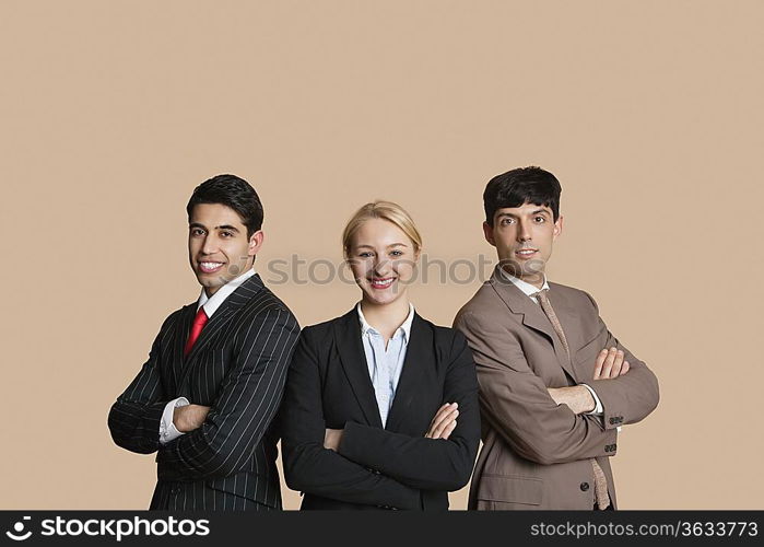
POLYGON ((111 438, 157 453, 150 509, 281 509, 274 417, 299 326, 252 269, 262 206, 246 181, 219 175, 187 212, 201 295, 165 319, 111 407, 111 438))

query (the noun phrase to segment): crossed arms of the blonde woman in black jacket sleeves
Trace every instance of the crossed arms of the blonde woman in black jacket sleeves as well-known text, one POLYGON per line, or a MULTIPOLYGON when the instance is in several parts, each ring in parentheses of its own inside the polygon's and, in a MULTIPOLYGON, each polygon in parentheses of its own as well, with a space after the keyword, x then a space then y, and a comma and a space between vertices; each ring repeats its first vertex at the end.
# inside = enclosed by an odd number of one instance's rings
POLYGON ((440 407, 428 431, 414 438, 354 422, 327 430, 317 352, 309 336, 302 336, 282 410, 290 488, 351 503, 421 509, 420 490, 456 490, 467 484, 480 417, 473 362, 463 337, 459 339, 462 347, 456 348, 444 393, 458 407, 440 407))

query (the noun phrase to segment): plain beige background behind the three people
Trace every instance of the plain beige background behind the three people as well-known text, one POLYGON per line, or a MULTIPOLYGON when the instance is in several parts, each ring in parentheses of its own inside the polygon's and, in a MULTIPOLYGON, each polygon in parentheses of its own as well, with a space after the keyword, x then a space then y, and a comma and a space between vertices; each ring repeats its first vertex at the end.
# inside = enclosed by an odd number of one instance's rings
MULTIPOLYGON (((590 291, 660 380, 619 440, 622 507, 762 509, 763 16, 761 1, 3 2, 0 508, 148 505, 153 458, 116 447, 106 416, 198 295, 184 207, 207 177, 260 193, 259 268, 339 261, 374 198, 410 210, 431 258, 494 259, 484 184, 540 164, 564 189, 551 279, 590 291)), ((412 298, 450 324, 478 286, 412 298)), ((270 287, 303 325, 359 295, 270 287)))

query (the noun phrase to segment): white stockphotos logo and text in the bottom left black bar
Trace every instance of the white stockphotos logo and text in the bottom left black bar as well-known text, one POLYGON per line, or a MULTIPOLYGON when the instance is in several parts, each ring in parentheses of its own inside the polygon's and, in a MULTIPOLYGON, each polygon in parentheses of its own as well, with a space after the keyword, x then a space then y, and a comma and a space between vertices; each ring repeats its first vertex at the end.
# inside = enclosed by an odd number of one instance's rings
POLYGON ((24 542, 33 535, 44 537, 111 537, 121 542, 124 537, 145 536, 207 536, 210 534, 210 521, 190 520, 168 516, 164 519, 45 519, 39 522, 39 529, 33 531, 32 517, 23 516, 5 535, 14 542, 24 542))

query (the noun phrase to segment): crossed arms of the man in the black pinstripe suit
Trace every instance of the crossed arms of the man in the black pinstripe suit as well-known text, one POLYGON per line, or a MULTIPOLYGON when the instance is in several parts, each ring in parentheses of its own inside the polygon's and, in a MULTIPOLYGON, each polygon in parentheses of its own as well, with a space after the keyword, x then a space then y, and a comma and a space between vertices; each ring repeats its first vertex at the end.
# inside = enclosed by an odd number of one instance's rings
POLYGON ((298 331, 294 316, 283 309, 270 309, 242 322, 234 335, 234 361, 212 406, 189 405, 190 409, 181 412, 176 409, 176 427, 188 433, 166 445, 158 444, 154 414, 169 397, 162 392, 156 356, 150 356, 111 409, 109 426, 116 426, 111 428, 115 442, 145 453, 158 450, 161 480, 199 480, 243 470, 279 408, 298 331), (152 421, 145 427, 148 416, 152 421))

